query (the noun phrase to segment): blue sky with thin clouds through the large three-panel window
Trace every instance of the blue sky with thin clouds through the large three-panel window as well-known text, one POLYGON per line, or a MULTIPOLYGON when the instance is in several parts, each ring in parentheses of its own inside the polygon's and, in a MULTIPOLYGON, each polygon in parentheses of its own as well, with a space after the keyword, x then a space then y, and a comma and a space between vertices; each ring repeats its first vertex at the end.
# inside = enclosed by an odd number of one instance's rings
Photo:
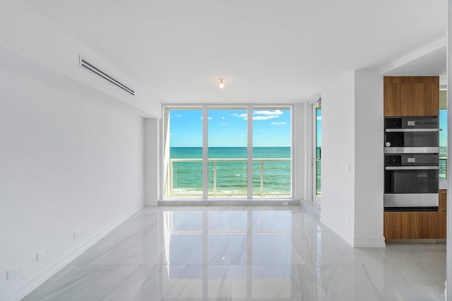
MULTIPOLYGON (((171 110, 171 147, 203 145, 202 110, 171 110)), ((209 110, 210 147, 244 147, 246 110, 209 110)), ((290 110, 256 109, 253 112, 254 146, 290 146, 290 110)))

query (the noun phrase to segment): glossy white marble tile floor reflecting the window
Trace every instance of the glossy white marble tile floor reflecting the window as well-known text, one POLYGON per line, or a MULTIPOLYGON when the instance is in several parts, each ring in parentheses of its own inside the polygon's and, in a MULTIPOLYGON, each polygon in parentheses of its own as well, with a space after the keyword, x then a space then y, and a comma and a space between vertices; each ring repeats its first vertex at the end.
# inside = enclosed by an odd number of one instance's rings
POLYGON ((143 208, 23 300, 444 300, 446 244, 352 248, 299 206, 143 208))

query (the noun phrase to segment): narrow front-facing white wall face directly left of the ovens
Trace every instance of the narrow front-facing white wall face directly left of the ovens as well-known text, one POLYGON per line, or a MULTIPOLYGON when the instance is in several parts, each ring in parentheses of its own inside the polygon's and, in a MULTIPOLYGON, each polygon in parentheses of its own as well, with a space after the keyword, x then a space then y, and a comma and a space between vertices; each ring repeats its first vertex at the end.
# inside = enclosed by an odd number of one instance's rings
POLYGON ((383 76, 355 71, 355 247, 383 247, 383 76))

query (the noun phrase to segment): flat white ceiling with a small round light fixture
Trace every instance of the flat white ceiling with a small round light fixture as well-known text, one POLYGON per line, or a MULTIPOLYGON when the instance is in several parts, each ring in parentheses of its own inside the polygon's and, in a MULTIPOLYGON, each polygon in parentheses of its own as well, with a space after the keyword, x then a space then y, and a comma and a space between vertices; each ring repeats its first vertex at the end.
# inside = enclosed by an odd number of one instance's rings
MULTIPOLYGON (((165 103, 314 100, 447 27, 444 0, 23 1, 165 103)), ((425 75, 429 59, 445 71, 445 52, 424 59, 401 71, 425 75)))

